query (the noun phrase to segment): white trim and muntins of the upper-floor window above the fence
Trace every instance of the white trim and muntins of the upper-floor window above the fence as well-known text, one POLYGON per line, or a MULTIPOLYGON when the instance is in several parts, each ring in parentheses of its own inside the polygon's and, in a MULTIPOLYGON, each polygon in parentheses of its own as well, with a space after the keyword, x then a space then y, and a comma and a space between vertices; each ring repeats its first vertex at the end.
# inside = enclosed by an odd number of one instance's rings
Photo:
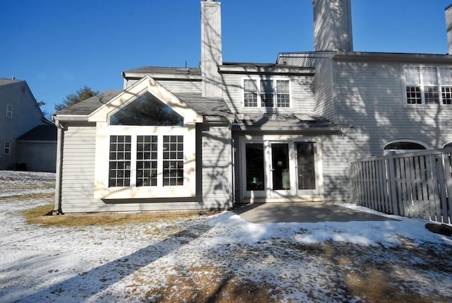
POLYGON ((402 75, 403 75, 403 96, 404 96, 403 100, 404 100, 404 105, 405 106, 407 106, 407 107, 413 107, 413 106, 435 106, 436 107, 438 105, 445 106, 445 107, 451 107, 452 106, 451 104, 444 104, 443 103, 443 95, 442 95, 441 88, 443 86, 445 86, 445 87, 452 87, 452 84, 451 85, 445 85, 445 84, 441 83, 441 80, 442 80, 441 79, 441 73, 439 72, 439 70, 441 68, 452 69, 452 66, 436 66, 436 65, 435 66, 431 66, 431 65, 425 65, 425 64, 407 64, 407 65, 403 66, 403 71, 402 71, 402 75), (406 93, 407 81, 406 81, 406 78, 405 78, 405 69, 408 68, 408 67, 418 67, 420 69, 420 92, 421 92, 421 102, 422 102, 421 104, 409 104, 408 103, 408 98, 407 98, 407 93, 406 93), (435 68, 436 69, 436 78, 438 80, 438 85, 436 85, 436 87, 437 87, 437 90, 438 90, 439 104, 426 104, 425 103, 425 88, 429 87, 429 86, 432 86, 432 85, 426 85, 426 84, 423 83, 422 69, 426 68, 426 67, 435 68))

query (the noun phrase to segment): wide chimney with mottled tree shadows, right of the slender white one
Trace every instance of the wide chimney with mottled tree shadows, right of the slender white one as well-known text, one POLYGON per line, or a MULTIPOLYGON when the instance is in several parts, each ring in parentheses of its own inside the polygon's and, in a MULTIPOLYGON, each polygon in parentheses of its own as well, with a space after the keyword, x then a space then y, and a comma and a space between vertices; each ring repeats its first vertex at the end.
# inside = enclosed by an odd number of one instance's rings
POLYGON ((314 49, 353 52, 350 0, 313 0, 314 49))

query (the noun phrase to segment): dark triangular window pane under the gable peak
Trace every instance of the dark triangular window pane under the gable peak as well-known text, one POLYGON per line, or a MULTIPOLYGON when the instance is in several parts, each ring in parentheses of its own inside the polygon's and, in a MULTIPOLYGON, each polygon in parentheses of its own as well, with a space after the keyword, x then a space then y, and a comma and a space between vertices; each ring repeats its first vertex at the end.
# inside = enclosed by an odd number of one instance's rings
POLYGON ((146 92, 113 114, 110 125, 182 126, 184 117, 146 92))

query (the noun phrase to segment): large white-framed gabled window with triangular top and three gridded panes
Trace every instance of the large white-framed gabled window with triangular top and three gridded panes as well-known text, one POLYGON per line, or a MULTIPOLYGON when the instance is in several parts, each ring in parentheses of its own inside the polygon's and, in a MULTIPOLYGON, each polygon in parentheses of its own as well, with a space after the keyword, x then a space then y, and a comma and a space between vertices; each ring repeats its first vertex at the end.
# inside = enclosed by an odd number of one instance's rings
MULTIPOLYGON (((147 82, 146 82, 147 81, 147 82)), ((190 107, 152 79, 97 114, 95 198, 196 196, 196 123, 190 107), (137 97, 138 96, 138 97, 137 97), (105 115, 105 116, 104 116, 105 115)))

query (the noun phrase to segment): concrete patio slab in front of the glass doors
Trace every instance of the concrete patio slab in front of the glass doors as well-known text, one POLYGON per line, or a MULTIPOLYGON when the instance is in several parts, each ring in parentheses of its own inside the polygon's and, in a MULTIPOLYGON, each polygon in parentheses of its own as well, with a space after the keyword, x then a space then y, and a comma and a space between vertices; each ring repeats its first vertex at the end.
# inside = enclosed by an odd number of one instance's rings
POLYGON ((392 220, 382 215, 321 202, 238 204, 233 211, 253 223, 392 220))

